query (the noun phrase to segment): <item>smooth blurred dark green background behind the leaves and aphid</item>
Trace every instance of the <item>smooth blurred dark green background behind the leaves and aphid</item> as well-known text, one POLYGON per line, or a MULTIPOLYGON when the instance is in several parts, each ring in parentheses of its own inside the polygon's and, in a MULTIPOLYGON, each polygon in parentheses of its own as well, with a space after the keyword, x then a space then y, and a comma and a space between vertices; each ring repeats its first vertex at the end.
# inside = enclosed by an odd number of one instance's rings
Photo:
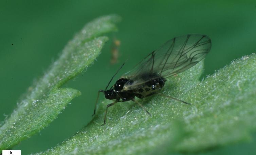
MULTIPOLYGON (((184 34, 199 33, 212 38, 205 58, 206 75, 233 59, 255 53, 256 1, 0 1, 0 122, 10 115, 19 97, 58 58, 65 44, 92 19, 118 14, 119 32, 109 34, 97 61, 65 84, 82 92, 51 125, 13 150, 22 154, 56 146, 84 127, 91 119, 99 89, 104 89, 120 65, 118 76, 165 41, 184 34), (121 41, 120 58, 111 65, 113 38, 121 41)), ((103 95, 100 96, 103 99, 103 95)), ((253 153, 251 142, 209 150, 202 154, 253 153)), ((255 149, 254 149, 255 150, 255 149)))

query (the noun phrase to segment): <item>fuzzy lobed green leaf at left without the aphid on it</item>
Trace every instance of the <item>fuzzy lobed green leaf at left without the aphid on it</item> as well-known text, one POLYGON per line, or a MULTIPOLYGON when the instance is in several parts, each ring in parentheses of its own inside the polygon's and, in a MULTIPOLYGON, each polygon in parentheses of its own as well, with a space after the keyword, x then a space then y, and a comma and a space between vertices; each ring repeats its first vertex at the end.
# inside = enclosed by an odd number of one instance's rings
POLYGON ((69 41, 60 57, 18 103, 12 115, 0 127, 0 150, 6 150, 21 140, 47 127, 74 97, 78 90, 60 88, 81 73, 99 55, 107 37, 116 30, 120 17, 111 15, 93 20, 69 41))

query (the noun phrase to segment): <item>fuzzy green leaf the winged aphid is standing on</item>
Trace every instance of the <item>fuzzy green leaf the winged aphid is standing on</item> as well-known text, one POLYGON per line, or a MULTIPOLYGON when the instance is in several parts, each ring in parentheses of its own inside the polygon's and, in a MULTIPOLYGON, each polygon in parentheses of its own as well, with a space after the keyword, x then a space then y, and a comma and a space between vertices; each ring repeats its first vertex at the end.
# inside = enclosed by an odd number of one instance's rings
POLYGON ((111 106, 98 104, 95 118, 76 135, 37 154, 155 154, 196 152, 250 138, 256 126, 256 55, 233 61, 199 81, 203 62, 169 78, 163 94, 192 103, 154 95, 111 106), (163 152, 161 152, 163 151, 163 152))

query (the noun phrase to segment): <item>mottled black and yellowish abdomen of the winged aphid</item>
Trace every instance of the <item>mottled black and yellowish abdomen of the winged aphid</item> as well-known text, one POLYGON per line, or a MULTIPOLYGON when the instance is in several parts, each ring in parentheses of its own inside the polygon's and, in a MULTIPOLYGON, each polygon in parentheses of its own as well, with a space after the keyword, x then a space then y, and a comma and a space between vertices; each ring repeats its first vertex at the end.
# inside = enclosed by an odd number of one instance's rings
POLYGON ((148 81, 144 84, 141 84, 137 89, 134 89, 133 92, 135 96, 139 98, 153 95, 163 88, 165 81, 166 80, 163 77, 148 81))

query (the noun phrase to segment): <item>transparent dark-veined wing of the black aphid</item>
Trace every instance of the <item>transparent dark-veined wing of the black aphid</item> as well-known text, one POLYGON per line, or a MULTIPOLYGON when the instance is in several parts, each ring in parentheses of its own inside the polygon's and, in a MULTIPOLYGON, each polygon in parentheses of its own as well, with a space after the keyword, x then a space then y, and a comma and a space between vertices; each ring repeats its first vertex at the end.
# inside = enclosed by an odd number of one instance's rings
POLYGON ((129 79, 126 89, 136 89, 142 83, 181 73, 202 60, 211 49, 211 39, 205 35, 184 35, 164 43, 150 53, 133 70, 123 75, 129 79))

